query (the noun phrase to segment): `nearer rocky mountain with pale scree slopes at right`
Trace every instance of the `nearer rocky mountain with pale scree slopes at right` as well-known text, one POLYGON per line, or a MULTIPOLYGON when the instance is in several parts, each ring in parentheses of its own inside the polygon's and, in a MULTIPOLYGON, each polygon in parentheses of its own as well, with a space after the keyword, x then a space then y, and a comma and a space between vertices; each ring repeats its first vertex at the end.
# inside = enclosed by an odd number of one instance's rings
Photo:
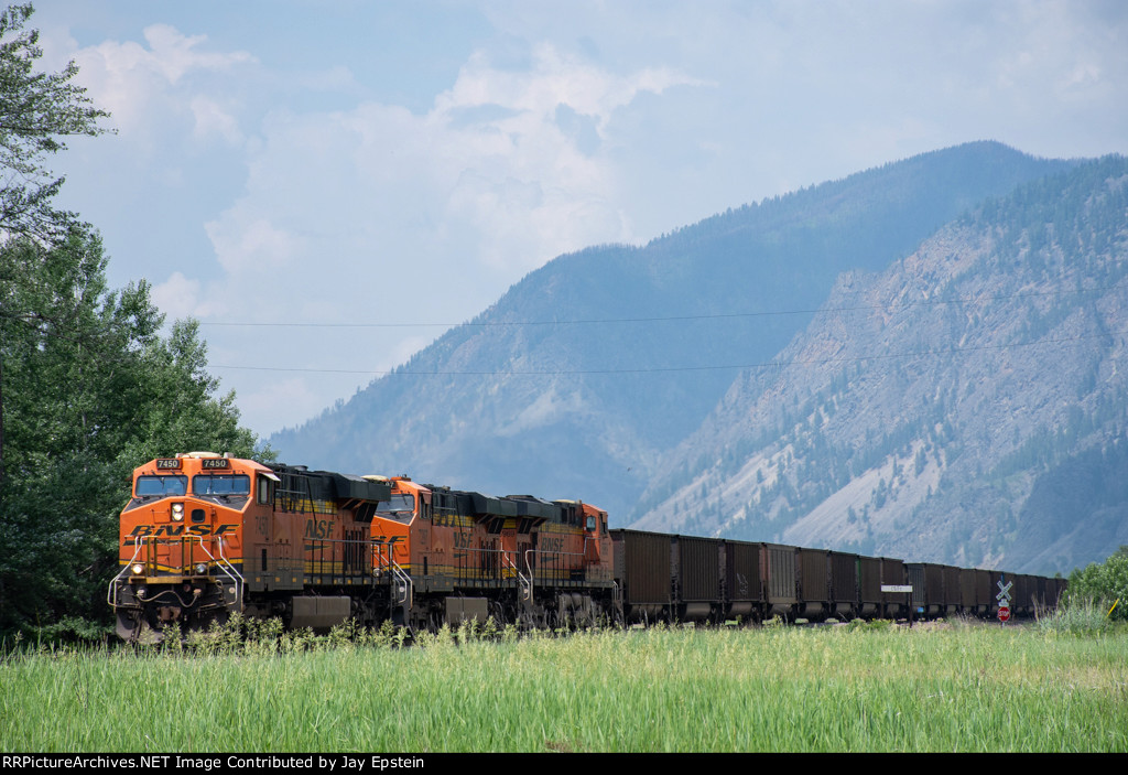
POLYGON ((1067 572, 1128 543, 1128 160, 852 271, 655 473, 634 526, 1067 572))

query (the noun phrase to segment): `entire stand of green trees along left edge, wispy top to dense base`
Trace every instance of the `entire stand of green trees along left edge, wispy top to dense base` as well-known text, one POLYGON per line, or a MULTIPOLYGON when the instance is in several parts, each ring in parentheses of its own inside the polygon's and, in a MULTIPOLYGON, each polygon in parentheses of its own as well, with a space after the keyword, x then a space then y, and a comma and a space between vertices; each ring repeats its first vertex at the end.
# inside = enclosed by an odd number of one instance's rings
POLYGON ((35 70, 32 12, 0 14, 0 629, 44 632, 108 618, 135 466, 191 449, 254 457, 256 439, 233 394, 217 396, 197 325, 161 336, 148 284, 109 290, 97 234, 52 205, 63 179, 45 158, 107 114, 73 62, 35 70))

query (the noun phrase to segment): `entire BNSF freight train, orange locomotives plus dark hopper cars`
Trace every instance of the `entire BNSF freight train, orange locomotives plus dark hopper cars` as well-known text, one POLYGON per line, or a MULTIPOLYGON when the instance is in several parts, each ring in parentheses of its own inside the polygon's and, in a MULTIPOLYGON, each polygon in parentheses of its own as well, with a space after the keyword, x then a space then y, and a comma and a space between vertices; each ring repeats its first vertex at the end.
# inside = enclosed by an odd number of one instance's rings
POLYGON ((133 472, 107 601, 127 641, 232 613, 325 629, 492 616, 600 620, 898 617, 1052 607, 1064 581, 776 544, 610 530, 581 501, 497 497, 213 452, 133 472), (882 591, 910 585, 911 593, 882 591))

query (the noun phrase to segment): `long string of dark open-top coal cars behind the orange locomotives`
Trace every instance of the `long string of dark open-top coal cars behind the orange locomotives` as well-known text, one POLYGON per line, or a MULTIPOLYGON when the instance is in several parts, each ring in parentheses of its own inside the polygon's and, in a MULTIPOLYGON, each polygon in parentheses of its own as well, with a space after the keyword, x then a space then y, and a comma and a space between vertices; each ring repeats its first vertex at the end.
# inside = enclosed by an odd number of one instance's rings
POLYGON ((1054 608, 1061 579, 906 563, 781 544, 611 530, 617 611, 629 623, 994 616, 1010 584, 1014 616, 1054 608), (911 587, 911 593, 882 591, 911 587))

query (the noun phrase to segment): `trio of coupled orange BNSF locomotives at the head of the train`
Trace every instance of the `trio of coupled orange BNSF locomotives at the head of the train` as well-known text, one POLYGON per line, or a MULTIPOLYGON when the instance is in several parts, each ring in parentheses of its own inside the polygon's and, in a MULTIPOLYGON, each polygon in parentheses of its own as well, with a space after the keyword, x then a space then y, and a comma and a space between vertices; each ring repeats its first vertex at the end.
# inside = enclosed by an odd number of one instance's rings
POLYGON ((264 466, 213 452, 133 472, 109 605, 126 640, 231 611, 326 628, 614 615, 607 513, 407 477, 264 466))

